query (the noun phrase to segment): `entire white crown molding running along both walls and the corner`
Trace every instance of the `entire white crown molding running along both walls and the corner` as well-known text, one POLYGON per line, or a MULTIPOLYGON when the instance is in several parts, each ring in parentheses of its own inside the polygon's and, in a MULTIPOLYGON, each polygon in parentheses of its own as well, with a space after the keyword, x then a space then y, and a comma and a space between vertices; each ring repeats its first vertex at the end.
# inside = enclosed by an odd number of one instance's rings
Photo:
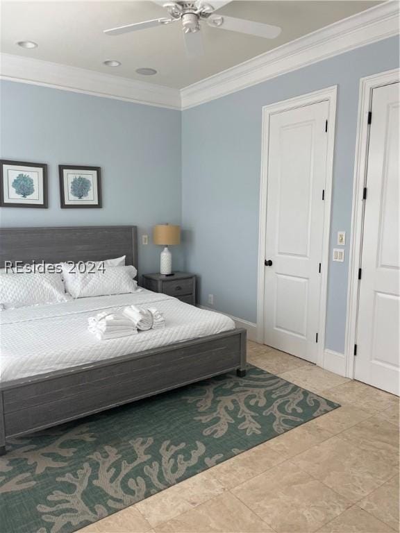
POLYGON ((287 72, 399 34, 399 2, 390 0, 335 22, 182 90, 0 53, 0 78, 117 100, 185 110, 287 72))

